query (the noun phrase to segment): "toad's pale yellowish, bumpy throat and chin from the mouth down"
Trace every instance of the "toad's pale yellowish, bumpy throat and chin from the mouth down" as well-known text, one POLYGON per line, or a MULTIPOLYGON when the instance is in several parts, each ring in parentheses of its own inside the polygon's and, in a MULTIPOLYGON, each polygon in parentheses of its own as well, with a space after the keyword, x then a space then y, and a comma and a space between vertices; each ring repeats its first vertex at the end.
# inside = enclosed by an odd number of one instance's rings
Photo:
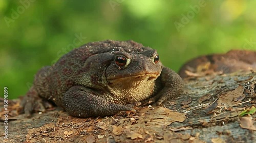
POLYGON ((129 104, 145 100, 152 95, 158 76, 159 74, 143 74, 108 80, 108 90, 113 96, 113 101, 110 101, 129 104))

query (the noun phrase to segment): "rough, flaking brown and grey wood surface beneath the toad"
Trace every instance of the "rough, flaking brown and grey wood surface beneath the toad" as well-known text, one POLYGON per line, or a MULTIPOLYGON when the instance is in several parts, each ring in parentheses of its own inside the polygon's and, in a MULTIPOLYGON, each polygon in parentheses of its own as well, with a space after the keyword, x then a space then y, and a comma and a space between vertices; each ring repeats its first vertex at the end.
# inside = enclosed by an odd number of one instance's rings
POLYGON ((182 95, 162 106, 138 106, 135 114, 105 118, 74 118, 56 107, 26 119, 16 115, 19 100, 9 101, 8 139, 2 109, 0 142, 255 142, 256 114, 239 113, 256 105, 256 73, 215 73, 184 81, 182 95))

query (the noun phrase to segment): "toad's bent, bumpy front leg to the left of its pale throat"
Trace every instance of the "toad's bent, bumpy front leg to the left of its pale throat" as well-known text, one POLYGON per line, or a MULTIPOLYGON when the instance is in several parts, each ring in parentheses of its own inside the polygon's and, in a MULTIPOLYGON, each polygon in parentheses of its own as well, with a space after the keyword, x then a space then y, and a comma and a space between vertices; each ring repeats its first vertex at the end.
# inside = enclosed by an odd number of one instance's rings
POLYGON ((135 111, 132 104, 122 105, 107 101, 97 96, 98 93, 81 86, 75 86, 64 93, 62 97, 62 107, 71 116, 91 117, 109 116, 119 111, 135 111))

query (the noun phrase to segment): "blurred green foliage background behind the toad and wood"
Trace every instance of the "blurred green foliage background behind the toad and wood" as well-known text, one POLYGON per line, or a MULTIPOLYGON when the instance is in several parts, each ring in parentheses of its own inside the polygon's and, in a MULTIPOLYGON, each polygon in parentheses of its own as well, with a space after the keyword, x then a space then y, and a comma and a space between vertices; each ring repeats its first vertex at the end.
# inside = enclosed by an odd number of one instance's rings
POLYGON ((0 87, 25 95, 43 66, 91 41, 134 40, 176 71, 196 56, 256 49, 256 1, 0 1, 0 87), (79 42, 74 42, 75 39, 79 42))

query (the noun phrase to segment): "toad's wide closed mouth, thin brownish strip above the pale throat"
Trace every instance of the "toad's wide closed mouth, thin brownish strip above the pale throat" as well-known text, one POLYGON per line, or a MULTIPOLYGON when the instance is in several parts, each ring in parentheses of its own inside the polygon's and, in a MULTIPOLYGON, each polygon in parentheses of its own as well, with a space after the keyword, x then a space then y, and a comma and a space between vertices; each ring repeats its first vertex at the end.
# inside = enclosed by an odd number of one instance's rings
POLYGON ((144 73, 144 74, 138 74, 138 75, 119 75, 119 76, 111 76, 107 78, 107 80, 110 83, 120 82, 120 81, 126 81, 126 82, 132 82, 132 81, 140 81, 140 80, 154 80, 159 76, 159 73, 144 73))

